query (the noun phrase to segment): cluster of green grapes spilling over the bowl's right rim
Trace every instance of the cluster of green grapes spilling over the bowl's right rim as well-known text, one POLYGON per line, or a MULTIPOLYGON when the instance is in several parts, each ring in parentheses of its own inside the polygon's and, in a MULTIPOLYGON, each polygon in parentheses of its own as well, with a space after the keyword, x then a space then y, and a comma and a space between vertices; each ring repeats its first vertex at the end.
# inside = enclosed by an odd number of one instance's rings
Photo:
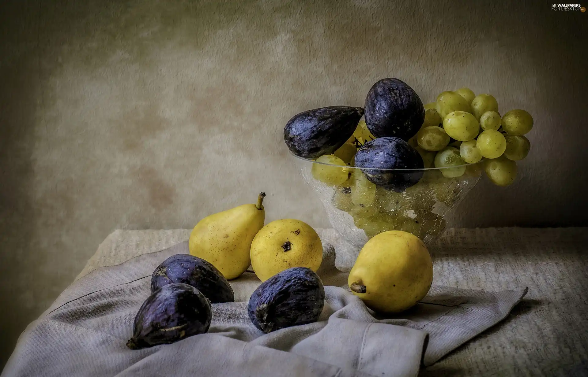
POLYGON ((442 92, 425 105, 425 122, 411 145, 425 167, 440 168, 447 178, 461 176, 466 164, 484 158, 486 176, 498 186, 507 186, 516 178, 515 161, 529 154, 531 144, 524 134, 532 128, 533 117, 525 110, 510 110, 501 117, 494 96, 476 96, 462 87, 442 92))

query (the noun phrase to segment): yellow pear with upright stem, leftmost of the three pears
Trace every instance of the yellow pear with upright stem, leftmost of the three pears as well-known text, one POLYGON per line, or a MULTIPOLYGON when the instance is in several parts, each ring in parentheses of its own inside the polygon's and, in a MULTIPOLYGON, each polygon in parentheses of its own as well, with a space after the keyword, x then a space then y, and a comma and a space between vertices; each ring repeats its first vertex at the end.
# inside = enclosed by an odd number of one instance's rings
POLYGON ((251 264, 251 242, 265 221, 264 197, 260 193, 257 204, 243 204, 200 220, 190 234, 190 254, 211 262, 228 280, 238 278, 251 264))

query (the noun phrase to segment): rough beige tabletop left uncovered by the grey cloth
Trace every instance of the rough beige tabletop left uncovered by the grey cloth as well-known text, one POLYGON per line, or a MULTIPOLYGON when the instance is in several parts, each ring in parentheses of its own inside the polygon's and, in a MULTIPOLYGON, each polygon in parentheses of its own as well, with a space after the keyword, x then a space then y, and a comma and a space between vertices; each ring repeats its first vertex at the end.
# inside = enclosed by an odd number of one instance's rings
MULTIPOLYGON (((325 242, 338 238, 318 229, 325 242)), ((154 253, 190 230, 116 230, 81 278, 100 267, 154 253)), ((423 376, 588 375, 588 228, 449 229, 430 247, 433 284, 500 291, 529 287, 512 313, 423 376)), ((76 278, 76 279, 77 279, 76 278)))

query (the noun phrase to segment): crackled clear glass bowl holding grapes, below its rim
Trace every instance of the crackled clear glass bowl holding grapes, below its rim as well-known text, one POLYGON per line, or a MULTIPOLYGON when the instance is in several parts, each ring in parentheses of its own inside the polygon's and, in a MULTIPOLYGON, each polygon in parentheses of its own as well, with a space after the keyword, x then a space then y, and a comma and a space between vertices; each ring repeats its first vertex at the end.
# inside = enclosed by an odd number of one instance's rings
POLYGON ((342 252, 353 261, 370 238, 387 230, 407 231, 430 245, 482 174, 482 161, 429 169, 360 169, 290 154, 302 179, 318 194, 330 224, 345 240, 342 252), (365 179, 364 173, 418 182, 403 192, 389 191, 365 179))

